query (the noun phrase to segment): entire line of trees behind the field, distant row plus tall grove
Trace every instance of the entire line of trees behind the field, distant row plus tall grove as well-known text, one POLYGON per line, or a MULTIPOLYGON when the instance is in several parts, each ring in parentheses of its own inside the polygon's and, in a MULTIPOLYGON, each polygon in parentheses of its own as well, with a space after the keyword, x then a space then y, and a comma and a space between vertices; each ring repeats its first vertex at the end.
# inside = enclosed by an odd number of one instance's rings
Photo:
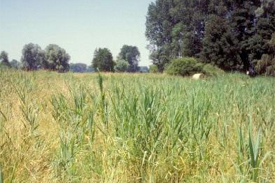
MULTIPOLYGON (((224 71, 275 76, 274 31, 275 0, 156 0, 148 7, 145 35, 154 64, 152 72, 163 72, 175 59, 194 57, 207 67, 224 71)), ((0 56, 2 65, 19 65, 15 60, 9 63, 6 52, 0 56)), ((22 50, 21 63, 28 71, 67 72, 69 60, 69 54, 58 45, 42 50, 30 43, 22 50)), ((180 62, 190 63, 185 60, 180 62)), ((138 72, 139 62, 139 49, 124 45, 116 60, 108 48, 98 48, 90 67, 71 67, 138 72)))

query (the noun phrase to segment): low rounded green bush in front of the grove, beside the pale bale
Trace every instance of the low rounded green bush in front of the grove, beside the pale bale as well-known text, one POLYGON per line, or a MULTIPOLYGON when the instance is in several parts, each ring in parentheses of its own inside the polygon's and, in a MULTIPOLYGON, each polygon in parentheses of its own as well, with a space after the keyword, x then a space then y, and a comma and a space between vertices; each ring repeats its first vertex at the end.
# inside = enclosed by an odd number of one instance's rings
POLYGON ((193 57, 176 58, 165 68, 169 75, 191 76, 203 72, 203 64, 193 57))

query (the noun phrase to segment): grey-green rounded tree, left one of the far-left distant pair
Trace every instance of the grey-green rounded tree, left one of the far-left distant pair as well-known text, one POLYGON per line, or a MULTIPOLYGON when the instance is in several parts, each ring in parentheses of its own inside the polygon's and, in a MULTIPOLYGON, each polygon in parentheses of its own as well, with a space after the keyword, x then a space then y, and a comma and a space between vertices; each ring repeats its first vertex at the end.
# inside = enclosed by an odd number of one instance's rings
POLYGON ((26 44, 22 50, 21 62, 27 71, 40 69, 45 62, 44 51, 38 44, 26 44))

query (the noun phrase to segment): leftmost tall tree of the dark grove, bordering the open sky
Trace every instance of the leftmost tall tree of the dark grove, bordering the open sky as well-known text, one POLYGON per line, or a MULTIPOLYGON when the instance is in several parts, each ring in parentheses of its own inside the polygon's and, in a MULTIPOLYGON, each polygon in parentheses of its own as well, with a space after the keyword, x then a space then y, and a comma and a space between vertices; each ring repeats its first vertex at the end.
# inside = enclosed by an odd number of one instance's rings
POLYGON ((146 37, 149 40, 150 59, 164 70, 165 64, 169 63, 171 55, 171 28, 176 24, 170 10, 175 5, 172 0, 157 0, 151 3, 146 16, 146 37))

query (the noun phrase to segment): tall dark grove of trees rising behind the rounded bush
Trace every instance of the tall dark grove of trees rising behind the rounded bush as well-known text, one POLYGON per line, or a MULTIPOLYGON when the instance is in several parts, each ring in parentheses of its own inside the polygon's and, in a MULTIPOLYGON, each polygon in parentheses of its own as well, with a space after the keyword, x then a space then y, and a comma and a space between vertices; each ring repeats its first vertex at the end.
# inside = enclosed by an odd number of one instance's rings
POLYGON ((156 0, 148 8, 150 58, 196 57, 224 71, 275 75, 274 0, 156 0))

